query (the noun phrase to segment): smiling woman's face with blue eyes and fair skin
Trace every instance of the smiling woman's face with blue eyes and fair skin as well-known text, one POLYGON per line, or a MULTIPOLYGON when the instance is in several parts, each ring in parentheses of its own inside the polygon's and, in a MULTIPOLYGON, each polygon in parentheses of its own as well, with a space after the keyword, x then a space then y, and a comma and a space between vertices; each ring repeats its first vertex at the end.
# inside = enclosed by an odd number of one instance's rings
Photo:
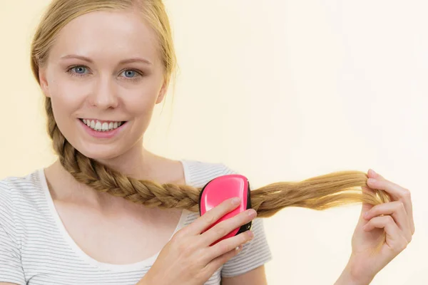
POLYGON ((165 95, 156 34, 131 11, 95 11, 58 33, 41 88, 58 128, 78 151, 110 159, 141 147, 165 95))

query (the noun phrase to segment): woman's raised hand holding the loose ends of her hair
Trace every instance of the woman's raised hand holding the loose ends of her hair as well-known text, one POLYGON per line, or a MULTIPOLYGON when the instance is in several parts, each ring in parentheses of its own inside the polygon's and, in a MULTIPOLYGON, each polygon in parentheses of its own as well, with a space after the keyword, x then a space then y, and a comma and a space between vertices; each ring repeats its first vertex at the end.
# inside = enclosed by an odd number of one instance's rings
MULTIPOLYGON (((384 190, 391 202, 372 207, 362 204, 362 212, 352 236, 350 261, 336 284, 370 284, 374 276, 397 257, 412 240, 414 233, 410 192, 373 170, 368 172, 367 185, 384 190), (383 234, 386 234, 386 240, 383 234), (380 247, 379 243, 381 244, 380 247)), ((363 187, 363 192, 372 191, 363 187)))

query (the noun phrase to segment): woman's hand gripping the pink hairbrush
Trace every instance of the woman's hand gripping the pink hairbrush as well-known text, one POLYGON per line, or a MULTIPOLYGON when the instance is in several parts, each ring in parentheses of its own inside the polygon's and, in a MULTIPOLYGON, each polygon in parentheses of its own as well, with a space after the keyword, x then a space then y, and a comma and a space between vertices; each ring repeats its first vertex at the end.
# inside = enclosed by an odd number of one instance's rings
POLYGON ((220 266, 240 252, 243 244, 253 239, 252 232, 248 230, 210 247, 213 242, 257 216, 254 209, 248 209, 208 229, 239 204, 233 204, 232 199, 227 199, 176 232, 138 284, 201 285, 208 281, 220 266), (253 215, 250 216, 250 213, 253 215), (201 234, 205 229, 208 231, 201 234))

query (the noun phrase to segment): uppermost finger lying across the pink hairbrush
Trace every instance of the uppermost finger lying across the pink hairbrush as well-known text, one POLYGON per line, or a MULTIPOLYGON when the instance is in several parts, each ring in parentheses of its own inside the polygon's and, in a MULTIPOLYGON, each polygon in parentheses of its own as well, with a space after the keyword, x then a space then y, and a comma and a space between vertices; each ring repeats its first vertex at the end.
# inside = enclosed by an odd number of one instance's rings
POLYGON ((237 204, 233 203, 233 198, 226 199, 225 201, 218 204, 218 206, 213 207, 213 209, 208 210, 202 216, 195 219, 194 222, 189 224, 187 227, 184 227, 183 234, 193 234, 198 235, 201 232, 205 231, 211 227, 215 222, 218 221, 221 217, 228 212, 232 212, 233 209, 236 209, 240 205, 240 202, 237 204))

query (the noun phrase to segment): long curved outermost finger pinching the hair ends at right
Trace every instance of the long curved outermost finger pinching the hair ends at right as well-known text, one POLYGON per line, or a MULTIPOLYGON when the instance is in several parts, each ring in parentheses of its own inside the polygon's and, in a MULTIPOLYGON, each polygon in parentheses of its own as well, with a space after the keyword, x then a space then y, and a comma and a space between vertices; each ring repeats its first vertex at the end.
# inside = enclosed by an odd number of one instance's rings
POLYGON ((409 219, 410 229, 412 234, 414 232, 414 222, 413 222, 413 209, 412 209, 412 198, 410 196, 410 191, 404 187, 401 187, 394 182, 385 180, 383 178, 377 178, 373 180, 370 178, 367 180, 367 185, 370 188, 377 190, 384 190, 387 192, 393 199, 401 201, 404 204, 406 209, 407 217, 409 219))

